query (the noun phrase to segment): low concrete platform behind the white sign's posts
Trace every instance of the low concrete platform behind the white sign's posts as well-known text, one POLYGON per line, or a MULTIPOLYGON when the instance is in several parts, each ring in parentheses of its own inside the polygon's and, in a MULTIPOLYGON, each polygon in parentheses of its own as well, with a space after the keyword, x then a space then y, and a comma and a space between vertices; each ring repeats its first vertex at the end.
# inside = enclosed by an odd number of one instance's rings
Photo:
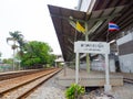
MULTIPOLYGON (((79 84, 85 87, 103 87, 105 85, 105 73, 80 70, 79 84)), ((123 76, 121 74, 110 74, 110 80, 112 86, 123 86, 123 76)), ((63 69, 55 80, 59 85, 69 87, 75 82, 75 70, 71 68, 63 69)))

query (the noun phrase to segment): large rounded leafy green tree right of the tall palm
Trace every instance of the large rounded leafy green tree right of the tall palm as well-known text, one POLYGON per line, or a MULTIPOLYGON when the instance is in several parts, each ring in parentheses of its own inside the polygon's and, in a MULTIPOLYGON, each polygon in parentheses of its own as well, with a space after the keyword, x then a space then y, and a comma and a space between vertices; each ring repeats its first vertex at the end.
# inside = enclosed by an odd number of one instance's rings
POLYGON ((52 48, 43 42, 32 41, 25 44, 24 55, 21 57, 21 65, 28 68, 35 66, 52 64, 54 56, 51 55, 52 48))

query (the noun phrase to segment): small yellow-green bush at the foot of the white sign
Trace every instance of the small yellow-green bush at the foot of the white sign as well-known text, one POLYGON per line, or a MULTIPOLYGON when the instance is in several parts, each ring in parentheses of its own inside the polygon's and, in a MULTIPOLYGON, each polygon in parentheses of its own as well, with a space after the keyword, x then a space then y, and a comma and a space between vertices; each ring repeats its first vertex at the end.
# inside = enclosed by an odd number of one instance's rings
POLYGON ((81 87, 80 85, 72 84, 66 90, 65 90, 65 97, 66 99, 79 99, 81 95, 85 92, 85 89, 81 87))

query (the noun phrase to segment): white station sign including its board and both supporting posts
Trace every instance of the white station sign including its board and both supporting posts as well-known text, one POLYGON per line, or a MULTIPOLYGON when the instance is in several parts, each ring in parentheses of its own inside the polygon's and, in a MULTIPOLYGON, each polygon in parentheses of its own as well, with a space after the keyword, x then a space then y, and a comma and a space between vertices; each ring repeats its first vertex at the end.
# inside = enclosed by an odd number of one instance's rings
POLYGON ((84 42, 78 41, 74 42, 74 52, 76 53, 75 57, 75 82, 79 82, 79 53, 96 53, 105 54, 105 85, 104 90, 110 91, 110 73, 109 73, 109 54, 110 45, 106 42, 84 42))

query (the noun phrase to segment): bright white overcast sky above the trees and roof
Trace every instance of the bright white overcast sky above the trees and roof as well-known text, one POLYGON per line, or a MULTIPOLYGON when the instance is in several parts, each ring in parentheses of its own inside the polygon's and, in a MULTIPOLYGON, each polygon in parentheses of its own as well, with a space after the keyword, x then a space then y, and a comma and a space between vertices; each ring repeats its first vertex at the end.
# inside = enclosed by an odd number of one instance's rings
POLYGON ((61 54, 48 4, 74 9, 79 0, 0 0, 1 58, 12 57, 7 44, 9 32, 20 31, 27 41, 48 43, 54 54, 61 54))

